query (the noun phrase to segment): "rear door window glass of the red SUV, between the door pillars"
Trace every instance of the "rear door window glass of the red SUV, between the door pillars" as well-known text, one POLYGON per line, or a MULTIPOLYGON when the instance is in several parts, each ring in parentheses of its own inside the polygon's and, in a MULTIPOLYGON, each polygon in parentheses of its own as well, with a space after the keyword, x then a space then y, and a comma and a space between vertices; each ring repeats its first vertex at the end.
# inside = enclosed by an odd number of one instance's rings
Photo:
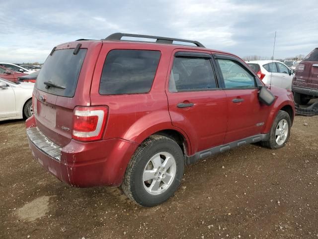
POLYGON ((208 58, 175 57, 169 80, 169 92, 207 91, 217 88, 208 58))

